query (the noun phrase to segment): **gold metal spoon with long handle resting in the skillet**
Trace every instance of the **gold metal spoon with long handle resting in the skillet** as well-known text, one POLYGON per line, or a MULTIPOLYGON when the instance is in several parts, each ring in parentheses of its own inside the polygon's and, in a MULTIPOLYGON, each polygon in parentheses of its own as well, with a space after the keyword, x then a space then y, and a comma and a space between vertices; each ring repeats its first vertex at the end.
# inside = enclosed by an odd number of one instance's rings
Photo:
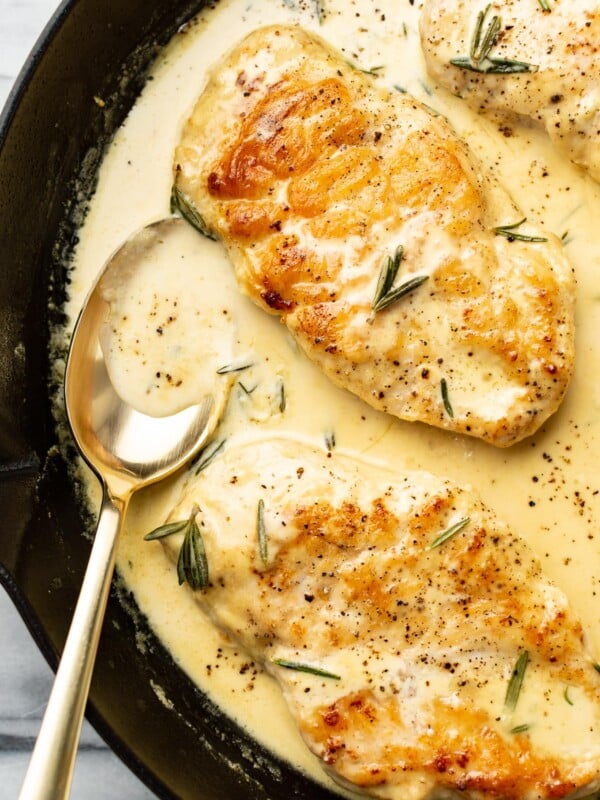
POLYGON ((114 571, 119 533, 132 494, 178 470, 214 430, 226 400, 226 384, 213 396, 166 417, 150 417, 127 405, 108 377, 99 334, 108 317, 103 285, 116 271, 131 270, 181 219, 154 223, 109 259, 80 312, 65 374, 71 430, 103 487, 98 527, 81 592, 20 800, 67 798, 98 640, 114 571))

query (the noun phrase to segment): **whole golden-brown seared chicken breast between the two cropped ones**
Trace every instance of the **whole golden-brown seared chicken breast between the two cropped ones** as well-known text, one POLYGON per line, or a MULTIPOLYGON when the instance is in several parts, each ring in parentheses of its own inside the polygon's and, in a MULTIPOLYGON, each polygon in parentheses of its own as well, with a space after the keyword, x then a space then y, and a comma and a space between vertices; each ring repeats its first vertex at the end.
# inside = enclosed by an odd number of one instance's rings
POLYGON ((559 406, 573 367, 560 242, 448 123, 297 27, 220 64, 175 154, 176 205, 239 285, 373 407, 499 446, 559 406))

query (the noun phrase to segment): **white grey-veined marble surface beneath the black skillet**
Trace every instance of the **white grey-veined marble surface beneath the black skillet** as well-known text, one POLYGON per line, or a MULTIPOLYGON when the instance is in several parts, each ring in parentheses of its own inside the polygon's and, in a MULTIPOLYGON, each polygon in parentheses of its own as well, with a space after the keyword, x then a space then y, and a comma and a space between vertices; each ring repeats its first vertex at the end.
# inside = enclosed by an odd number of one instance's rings
MULTIPOLYGON (((0 0, 0 107, 58 5, 57 0, 0 0)), ((0 642, 0 800, 13 800, 19 794, 53 676, 2 587, 0 642)), ((150 800, 154 795, 84 723, 71 797, 150 800)))

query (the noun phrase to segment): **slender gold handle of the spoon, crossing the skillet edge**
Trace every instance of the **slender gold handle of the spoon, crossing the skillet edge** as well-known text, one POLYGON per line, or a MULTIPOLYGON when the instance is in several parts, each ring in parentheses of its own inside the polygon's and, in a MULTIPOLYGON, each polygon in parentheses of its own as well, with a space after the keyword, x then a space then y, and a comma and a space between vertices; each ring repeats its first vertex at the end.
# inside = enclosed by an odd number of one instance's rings
POLYGON ((19 800, 68 798, 126 501, 105 492, 90 559, 19 800))

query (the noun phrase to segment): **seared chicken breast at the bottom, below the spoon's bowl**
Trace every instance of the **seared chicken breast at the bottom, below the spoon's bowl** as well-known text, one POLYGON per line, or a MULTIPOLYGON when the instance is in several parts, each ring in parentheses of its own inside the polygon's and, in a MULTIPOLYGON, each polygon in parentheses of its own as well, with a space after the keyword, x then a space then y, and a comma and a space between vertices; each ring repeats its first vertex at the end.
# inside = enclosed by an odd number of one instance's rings
POLYGON ((178 522, 162 541, 180 580, 344 785, 394 800, 600 788, 581 626, 470 489, 263 440, 193 478, 178 522))

